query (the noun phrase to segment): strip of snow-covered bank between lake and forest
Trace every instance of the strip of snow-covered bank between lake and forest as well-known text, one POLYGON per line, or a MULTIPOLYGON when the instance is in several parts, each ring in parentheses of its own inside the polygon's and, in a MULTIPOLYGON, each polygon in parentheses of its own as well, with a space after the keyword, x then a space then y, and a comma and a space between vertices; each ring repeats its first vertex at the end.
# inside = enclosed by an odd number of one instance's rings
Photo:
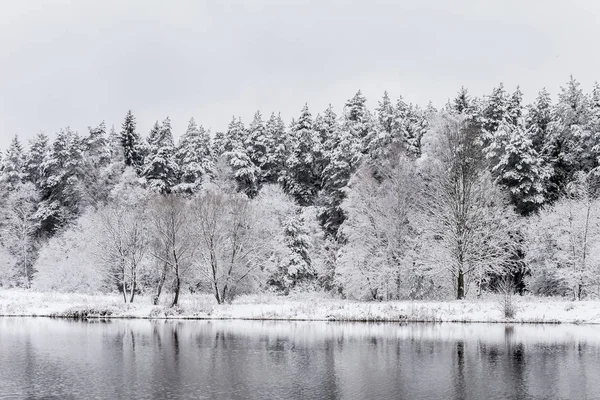
POLYGON ((600 324, 598 300, 515 296, 514 301, 516 316, 506 319, 499 299, 493 297, 446 302, 355 302, 307 293, 290 297, 242 296, 233 304, 218 305, 210 295, 185 294, 180 306, 170 308, 168 299, 153 306, 145 296, 139 296, 133 304, 124 304, 118 295, 0 290, 0 316, 600 324))

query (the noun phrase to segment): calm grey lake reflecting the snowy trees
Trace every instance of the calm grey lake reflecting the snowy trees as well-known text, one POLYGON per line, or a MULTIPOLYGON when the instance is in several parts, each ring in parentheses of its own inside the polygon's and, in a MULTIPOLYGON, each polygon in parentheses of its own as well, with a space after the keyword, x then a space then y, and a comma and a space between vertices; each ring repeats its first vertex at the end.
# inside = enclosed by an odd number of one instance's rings
POLYGON ((0 318, 0 399, 594 399, 600 327, 0 318))

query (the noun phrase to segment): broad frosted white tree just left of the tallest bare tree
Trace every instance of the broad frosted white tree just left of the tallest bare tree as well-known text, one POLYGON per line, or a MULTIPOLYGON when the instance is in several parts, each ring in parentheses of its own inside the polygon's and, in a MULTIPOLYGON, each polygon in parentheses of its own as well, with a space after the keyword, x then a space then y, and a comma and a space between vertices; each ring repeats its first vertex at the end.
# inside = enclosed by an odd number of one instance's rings
POLYGON ((428 292, 414 221, 418 187, 414 167, 399 158, 375 170, 364 165, 342 204, 347 219, 337 281, 347 295, 369 299, 418 298, 428 292))

